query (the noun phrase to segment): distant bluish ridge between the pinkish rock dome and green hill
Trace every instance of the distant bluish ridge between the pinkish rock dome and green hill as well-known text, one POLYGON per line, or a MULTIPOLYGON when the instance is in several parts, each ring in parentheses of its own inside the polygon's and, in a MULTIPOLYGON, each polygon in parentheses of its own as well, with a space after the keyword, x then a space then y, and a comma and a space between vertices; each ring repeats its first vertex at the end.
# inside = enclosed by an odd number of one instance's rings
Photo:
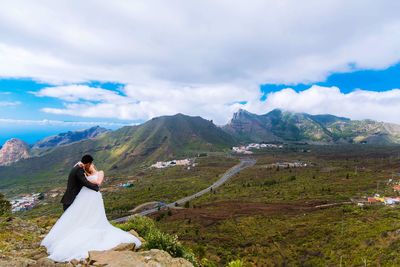
POLYGON ((35 143, 33 149, 49 149, 57 146, 68 145, 82 140, 96 138, 97 136, 108 131, 109 130, 100 126, 81 131, 69 131, 66 133, 46 137, 45 139, 35 143))

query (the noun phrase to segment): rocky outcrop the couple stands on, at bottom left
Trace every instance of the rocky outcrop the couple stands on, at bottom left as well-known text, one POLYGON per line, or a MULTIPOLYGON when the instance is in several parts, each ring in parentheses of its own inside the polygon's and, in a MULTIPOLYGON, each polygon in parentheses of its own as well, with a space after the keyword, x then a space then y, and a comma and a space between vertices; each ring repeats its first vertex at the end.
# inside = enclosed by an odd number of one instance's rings
MULTIPOLYGON (((73 266, 157 266, 189 267, 192 263, 183 258, 173 258, 163 250, 135 248, 132 243, 123 243, 107 251, 90 251, 87 259, 70 262, 54 262, 47 258, 41 240, 50 230, 54 220, 37 219, 36 223, 20 218, 1 218, 0 224, 0 267, 73 267, 73 266)), ((142 244, 146 241, 134 230, 129 231, 142 244)))

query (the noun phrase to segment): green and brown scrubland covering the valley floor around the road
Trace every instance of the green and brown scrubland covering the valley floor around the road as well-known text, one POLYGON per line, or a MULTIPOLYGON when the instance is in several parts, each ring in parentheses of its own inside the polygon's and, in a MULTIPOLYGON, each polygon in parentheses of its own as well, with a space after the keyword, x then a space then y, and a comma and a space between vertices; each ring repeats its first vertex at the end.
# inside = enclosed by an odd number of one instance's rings
MULTIPOLYGON (((304 146, 257 152, 257 164, 227 184, 187 203, 184 209, 153 215, 161 231, 177 234, 204 266, 242 259, 245 266, 400 265, 400 207, 348 202, 376 193, 394 195, 385 184, 400 180, 399 146, 304 146), (309 152, 307 152, 309 151, 309 152), (301 161, 303 168, 268 168, 301 161), (205 260, 207 259, 207 260, 205 260)), ((104 193, 109 218, 140 203, 173 201, 207 187, 237 158, 197 159, 192 170, 142 169, 113 183, 135 180, 133 188, 104 193)), ((17 216, 40 219, 61 213, 58 199, 17 216)))

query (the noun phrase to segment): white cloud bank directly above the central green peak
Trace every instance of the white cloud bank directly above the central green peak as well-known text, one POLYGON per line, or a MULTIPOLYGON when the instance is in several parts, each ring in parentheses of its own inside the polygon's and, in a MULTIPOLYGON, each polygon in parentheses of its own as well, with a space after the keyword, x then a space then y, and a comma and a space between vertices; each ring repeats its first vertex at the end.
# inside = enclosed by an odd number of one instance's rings
POLYGON ((147 120, 161 115, 184 113, 226 123, 239 107, 238 101, 257 101, 258 90, 246 90, 233 85, 197 85, 175 87, 170 83, 130 84, 122 91, 88 86, 58 86, 45 88, 35 95, 65 100, 63 108, 43 108, 42 111, 58 115, 89 118, 116 118, 147 120))

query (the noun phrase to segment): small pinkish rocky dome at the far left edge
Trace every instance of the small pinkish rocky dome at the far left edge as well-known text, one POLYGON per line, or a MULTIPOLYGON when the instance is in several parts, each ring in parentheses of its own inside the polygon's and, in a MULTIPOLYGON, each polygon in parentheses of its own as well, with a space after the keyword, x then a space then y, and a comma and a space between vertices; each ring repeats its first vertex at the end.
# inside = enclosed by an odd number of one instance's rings
POLYGON ((29 158, 29 146, 19 139, 8 140, 0 149, 0 166, 10 165, 26 158, 29 158))

